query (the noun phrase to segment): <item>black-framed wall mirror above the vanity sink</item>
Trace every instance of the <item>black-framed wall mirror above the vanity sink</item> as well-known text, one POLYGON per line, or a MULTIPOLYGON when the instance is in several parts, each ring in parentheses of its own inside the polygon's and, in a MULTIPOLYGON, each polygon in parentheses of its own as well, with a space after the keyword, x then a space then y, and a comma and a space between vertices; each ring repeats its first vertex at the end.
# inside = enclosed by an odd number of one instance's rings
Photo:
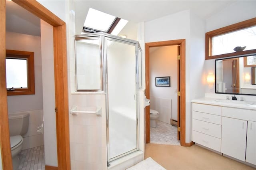
POLYGON ((256 95, 256 54, 215 60, 215 93, 256 95))

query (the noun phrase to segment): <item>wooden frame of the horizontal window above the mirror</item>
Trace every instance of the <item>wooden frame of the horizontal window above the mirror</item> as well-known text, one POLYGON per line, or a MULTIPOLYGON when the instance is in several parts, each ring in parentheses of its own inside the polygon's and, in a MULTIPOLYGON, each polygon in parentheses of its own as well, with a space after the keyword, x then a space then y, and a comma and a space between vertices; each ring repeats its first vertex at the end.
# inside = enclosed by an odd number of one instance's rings
POLYGON ((247 55, 251 53, 256 53, 256 49, 250 49, 245 51, 238 51, 234 53, 226 53, 220 55, 212 55, 212 38, 215 36, 220 36, 222 34, 234 32, 237 30, 242 30, 245 28, 249 28, 252 26, 256 26, 256 18, 252 18, 250 20, 245 20, 242 22, 238 22, 236 24, 232 24, 230 26, 226 26, 223 28, 219 28, 217 30, 213 30, 205 33, 205 59, 217 59, 217 58, 226 58, 233 57, 237 55, 247 55))

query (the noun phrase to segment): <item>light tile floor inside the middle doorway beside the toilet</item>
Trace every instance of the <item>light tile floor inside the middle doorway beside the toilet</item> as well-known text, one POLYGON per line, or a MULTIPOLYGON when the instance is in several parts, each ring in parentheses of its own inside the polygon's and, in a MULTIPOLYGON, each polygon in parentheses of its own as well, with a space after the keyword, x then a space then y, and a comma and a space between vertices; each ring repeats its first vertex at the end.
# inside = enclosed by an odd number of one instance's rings
POLYGON ((177 126, 156 121, 156 127, 150 127, 150 143, 180 145, 180 140, 177 140, 177 126))

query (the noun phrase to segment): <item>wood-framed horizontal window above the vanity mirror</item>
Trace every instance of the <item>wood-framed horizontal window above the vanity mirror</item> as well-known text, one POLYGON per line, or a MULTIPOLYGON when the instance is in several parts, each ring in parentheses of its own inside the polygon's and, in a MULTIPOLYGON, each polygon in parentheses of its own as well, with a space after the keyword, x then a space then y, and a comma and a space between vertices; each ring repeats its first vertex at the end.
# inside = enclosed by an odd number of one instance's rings
POLYGON ((215 59, 256 53, 256 18, 206 33, 206 57, 215 59))

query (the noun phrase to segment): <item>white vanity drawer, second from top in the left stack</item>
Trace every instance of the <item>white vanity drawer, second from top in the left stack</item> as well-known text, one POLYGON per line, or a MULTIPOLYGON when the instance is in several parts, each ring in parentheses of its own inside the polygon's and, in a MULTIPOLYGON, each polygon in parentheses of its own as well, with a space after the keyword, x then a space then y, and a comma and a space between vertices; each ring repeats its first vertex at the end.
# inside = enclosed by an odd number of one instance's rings
POLYGON ((221 125, 221 116, 193 111, 193 119, 221 125))

